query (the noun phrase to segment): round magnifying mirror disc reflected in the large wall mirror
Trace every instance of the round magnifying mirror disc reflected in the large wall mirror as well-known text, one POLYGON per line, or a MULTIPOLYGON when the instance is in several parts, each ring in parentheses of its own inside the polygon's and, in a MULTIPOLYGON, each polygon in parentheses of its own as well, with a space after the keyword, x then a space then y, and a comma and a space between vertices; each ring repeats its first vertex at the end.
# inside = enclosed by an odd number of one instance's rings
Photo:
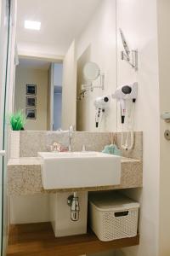
POLYGON ((99 77, 99 66, 94 62, 87 62, 83 67, 85 79, 95 80, 99 77))

